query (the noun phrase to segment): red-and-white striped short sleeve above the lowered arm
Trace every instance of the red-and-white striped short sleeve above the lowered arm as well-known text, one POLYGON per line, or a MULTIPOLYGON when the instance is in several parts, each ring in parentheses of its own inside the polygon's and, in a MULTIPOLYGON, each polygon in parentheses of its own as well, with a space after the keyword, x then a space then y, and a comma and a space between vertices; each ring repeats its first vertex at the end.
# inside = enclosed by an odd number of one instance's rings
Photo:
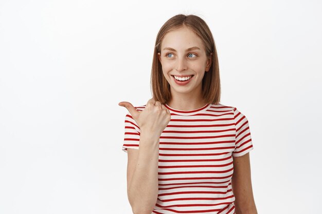
POLYGON ((232 157, 240 157, 254 149, 251 130, 246 116, 234 108, 234 121, 236 127, 235 150, 232 157))

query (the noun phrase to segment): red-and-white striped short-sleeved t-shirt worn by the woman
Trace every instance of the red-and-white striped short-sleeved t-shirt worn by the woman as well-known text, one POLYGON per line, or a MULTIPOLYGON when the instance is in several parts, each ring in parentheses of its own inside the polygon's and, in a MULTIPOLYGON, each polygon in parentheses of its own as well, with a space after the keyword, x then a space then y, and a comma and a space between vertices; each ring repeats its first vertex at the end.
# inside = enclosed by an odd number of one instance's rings
MULTIPOLYGON (((253 150, 247 118, 222 104, 191 111, 165 107, 171 120, 159 139, 158 197, 152 213, 234 214, 232 157, 253 150)), ((122 150, 139 149, 139 139, 140 128, 128 112, 122 150)))

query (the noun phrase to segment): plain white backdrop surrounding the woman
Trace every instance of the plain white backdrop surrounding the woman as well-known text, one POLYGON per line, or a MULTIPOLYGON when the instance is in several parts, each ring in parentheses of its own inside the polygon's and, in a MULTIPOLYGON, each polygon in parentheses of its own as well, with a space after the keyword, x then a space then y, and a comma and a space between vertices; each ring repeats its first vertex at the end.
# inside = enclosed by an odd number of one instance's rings
POLYGON ((202 17, 221 104, 248 119, 258 213, 320 213, 321 1, 0 1, 0 213, 132 213, 126 108, 155 37, 202 17))

